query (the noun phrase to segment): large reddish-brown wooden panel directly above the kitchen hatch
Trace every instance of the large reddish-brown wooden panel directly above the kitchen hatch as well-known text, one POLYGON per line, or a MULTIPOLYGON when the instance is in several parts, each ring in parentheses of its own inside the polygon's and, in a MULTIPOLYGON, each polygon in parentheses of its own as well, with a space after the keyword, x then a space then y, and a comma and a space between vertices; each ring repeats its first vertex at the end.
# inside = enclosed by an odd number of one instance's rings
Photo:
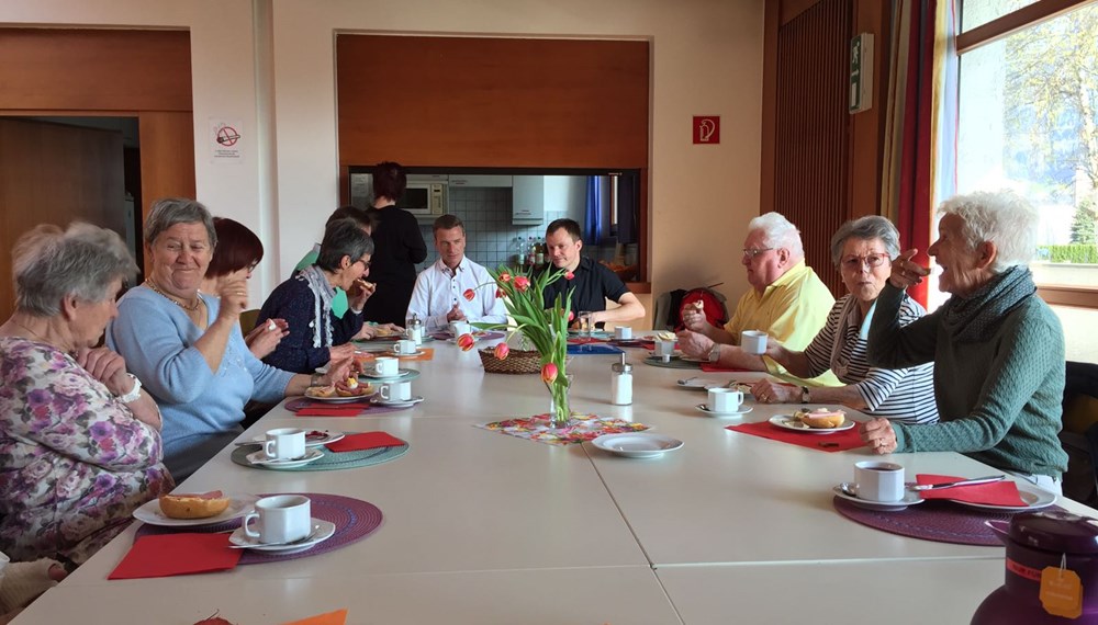
POLYGON ((339 163, 647 168, 649 44, 339 35, 339 163))

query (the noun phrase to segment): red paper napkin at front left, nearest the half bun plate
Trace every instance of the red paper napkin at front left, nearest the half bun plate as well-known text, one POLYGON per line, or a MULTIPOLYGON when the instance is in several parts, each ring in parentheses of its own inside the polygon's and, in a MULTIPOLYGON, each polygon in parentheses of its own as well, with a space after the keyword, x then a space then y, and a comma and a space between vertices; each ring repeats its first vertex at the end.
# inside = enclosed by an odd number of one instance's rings
POLYGON ((242 549, 228 547, 228 534, 156 534, 137 538, 107 579, 170 577, 236 567, 242 549))

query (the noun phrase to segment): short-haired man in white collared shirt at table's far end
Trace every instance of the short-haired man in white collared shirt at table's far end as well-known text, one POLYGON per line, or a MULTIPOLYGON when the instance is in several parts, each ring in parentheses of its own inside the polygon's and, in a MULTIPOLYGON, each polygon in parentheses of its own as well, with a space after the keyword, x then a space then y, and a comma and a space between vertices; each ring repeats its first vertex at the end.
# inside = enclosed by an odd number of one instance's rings
POLYGON ((492 276, 466 258, 466 227, 461 219, 442 215, 435 219, 434 230, 438 260, 416 277, 406 318, 417 315, 428 332, 450 321, 506 323, 506 308, 495 296, 492 276), (469 289, 471 300, 464 295, 469 289))

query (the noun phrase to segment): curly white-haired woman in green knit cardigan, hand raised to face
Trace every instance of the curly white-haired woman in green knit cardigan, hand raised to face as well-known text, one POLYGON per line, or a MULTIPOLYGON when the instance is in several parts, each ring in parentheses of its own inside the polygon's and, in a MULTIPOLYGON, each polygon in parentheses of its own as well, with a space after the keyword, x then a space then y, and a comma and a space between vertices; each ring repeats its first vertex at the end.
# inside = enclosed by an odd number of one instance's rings
POLYGON ((1038 215, 1010 192, 959 195, 939 213, 939 238, 927 251, 952 297, 900 327, 904 289, 930 273, 911 262, 916 250, 900 254, 877 297, 869 356, 888 368, 933 361, 941 421, 874 419, 860 428, 862 439, 878 454, 960 452, 1060 493, 1064 332, 1027 266, 1038 215))

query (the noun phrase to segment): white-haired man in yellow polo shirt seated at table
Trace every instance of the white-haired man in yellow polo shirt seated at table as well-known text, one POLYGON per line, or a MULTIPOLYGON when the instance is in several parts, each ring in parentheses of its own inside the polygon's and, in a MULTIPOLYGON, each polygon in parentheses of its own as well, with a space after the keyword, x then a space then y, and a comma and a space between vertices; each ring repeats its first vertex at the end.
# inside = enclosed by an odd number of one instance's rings
MULTIPOLYGON (((708 359, 720 366, 769 371, 797 379, 769 357, 741 350, 740 332, 762 330, 789 350, 804 350, 827 321, 834 297, 805 264, 800 232, 778 213, 760 215, 748 224, 742 262, 752 288, 740 297, 731 320, 717 328, 701 312, 683 312, 686 329, 679 333, 679 346, 688 356, 708 359)), ((803 382, 841 384, 831 372, 803 382)))

